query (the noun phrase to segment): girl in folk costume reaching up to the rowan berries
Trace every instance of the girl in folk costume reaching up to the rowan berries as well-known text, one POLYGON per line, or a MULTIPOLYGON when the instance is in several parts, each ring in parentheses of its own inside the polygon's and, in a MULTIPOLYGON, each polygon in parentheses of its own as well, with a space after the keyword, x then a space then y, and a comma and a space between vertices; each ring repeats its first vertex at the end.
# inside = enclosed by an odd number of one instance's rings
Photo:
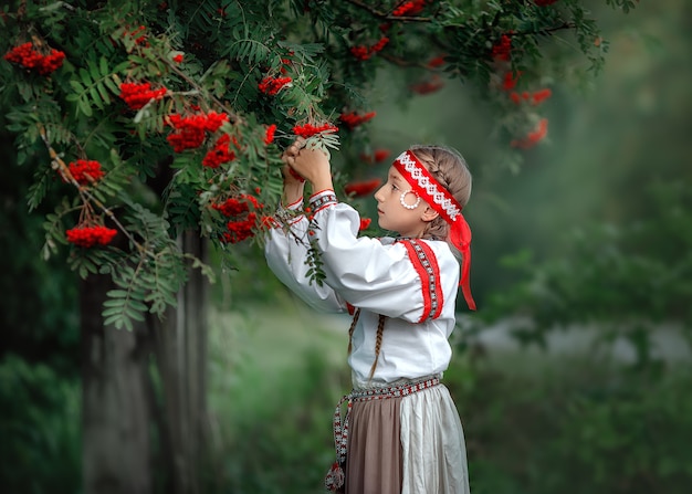
POLYGON ((337 201, 327 156, 303 146, 297 140, 284 154, 286 206, 277 216, 290 228, 270 231, 265 255, 306 303, 354 315, 353 391, 334 414, 336 462, 325 484, 347 494, 469 493, 462 425, 440 378, 452 354, 459 285, 475 309, 471 231, 461 214, 471 174, 451 149, 411 147, 375 193, 379 225, 398 237, 370 239, 358 237, 356 210, 337 201), (313 190, 308 217, 301 214, 303 178, 313 190), (308 276, 314 250, 324 283, 308 276))

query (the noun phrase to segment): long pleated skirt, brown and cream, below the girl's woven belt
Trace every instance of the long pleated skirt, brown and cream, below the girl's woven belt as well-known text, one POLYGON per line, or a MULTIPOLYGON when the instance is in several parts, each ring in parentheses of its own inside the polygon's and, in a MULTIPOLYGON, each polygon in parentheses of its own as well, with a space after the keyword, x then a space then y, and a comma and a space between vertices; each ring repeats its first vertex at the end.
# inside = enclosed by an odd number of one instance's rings
POLYGON ((463 430, 444 385, 353 401, 346 494, 469 494, 463 430))

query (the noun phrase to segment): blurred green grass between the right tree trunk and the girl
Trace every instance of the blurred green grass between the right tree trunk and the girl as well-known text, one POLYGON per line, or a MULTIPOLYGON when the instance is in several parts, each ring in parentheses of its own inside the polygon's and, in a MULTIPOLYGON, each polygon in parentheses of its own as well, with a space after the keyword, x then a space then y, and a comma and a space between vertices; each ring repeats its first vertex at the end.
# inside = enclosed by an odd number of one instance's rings
POLYGON ((324 492, 334 461, 331 417, 349 386, 348 323, 285 295, 212 314, 212 488, 324 492))

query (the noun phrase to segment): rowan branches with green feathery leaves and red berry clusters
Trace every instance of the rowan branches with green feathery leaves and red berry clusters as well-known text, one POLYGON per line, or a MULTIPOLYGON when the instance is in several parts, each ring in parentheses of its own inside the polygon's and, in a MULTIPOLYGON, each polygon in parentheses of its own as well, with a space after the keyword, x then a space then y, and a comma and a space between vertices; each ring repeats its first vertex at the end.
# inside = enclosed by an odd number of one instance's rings
POLYGON ((30 207, 52 188, 63 197, 44 255, 66 252, 83 277, 111 273, 107 322, 161 314, 189 261, 212 276, 177 234, 199 229, 222 251, 253 238, 296 135, 373 150, 368 88, 384 67, 398 71, 392 91, 411 95, 469 85, 495 112, 500 143, 532 147, 547 133, 543 81, 564 69, 553 41, 574 40, 590 71, 604 63, 607 42, 584 3, 12 2, 1 15, 2 105, 18 164, 43 156, 30 207))

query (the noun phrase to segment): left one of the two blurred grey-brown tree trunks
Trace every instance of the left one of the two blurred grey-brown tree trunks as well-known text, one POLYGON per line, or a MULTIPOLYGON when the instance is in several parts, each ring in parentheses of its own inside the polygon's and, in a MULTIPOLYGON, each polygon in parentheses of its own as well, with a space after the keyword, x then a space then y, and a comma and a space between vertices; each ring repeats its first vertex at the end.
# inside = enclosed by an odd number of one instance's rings
POLYGON ((81 285, 82 455, 85 494, 150 494, 146 353, 133 332, 104 327, 101 312, 109 276, 81 285))

